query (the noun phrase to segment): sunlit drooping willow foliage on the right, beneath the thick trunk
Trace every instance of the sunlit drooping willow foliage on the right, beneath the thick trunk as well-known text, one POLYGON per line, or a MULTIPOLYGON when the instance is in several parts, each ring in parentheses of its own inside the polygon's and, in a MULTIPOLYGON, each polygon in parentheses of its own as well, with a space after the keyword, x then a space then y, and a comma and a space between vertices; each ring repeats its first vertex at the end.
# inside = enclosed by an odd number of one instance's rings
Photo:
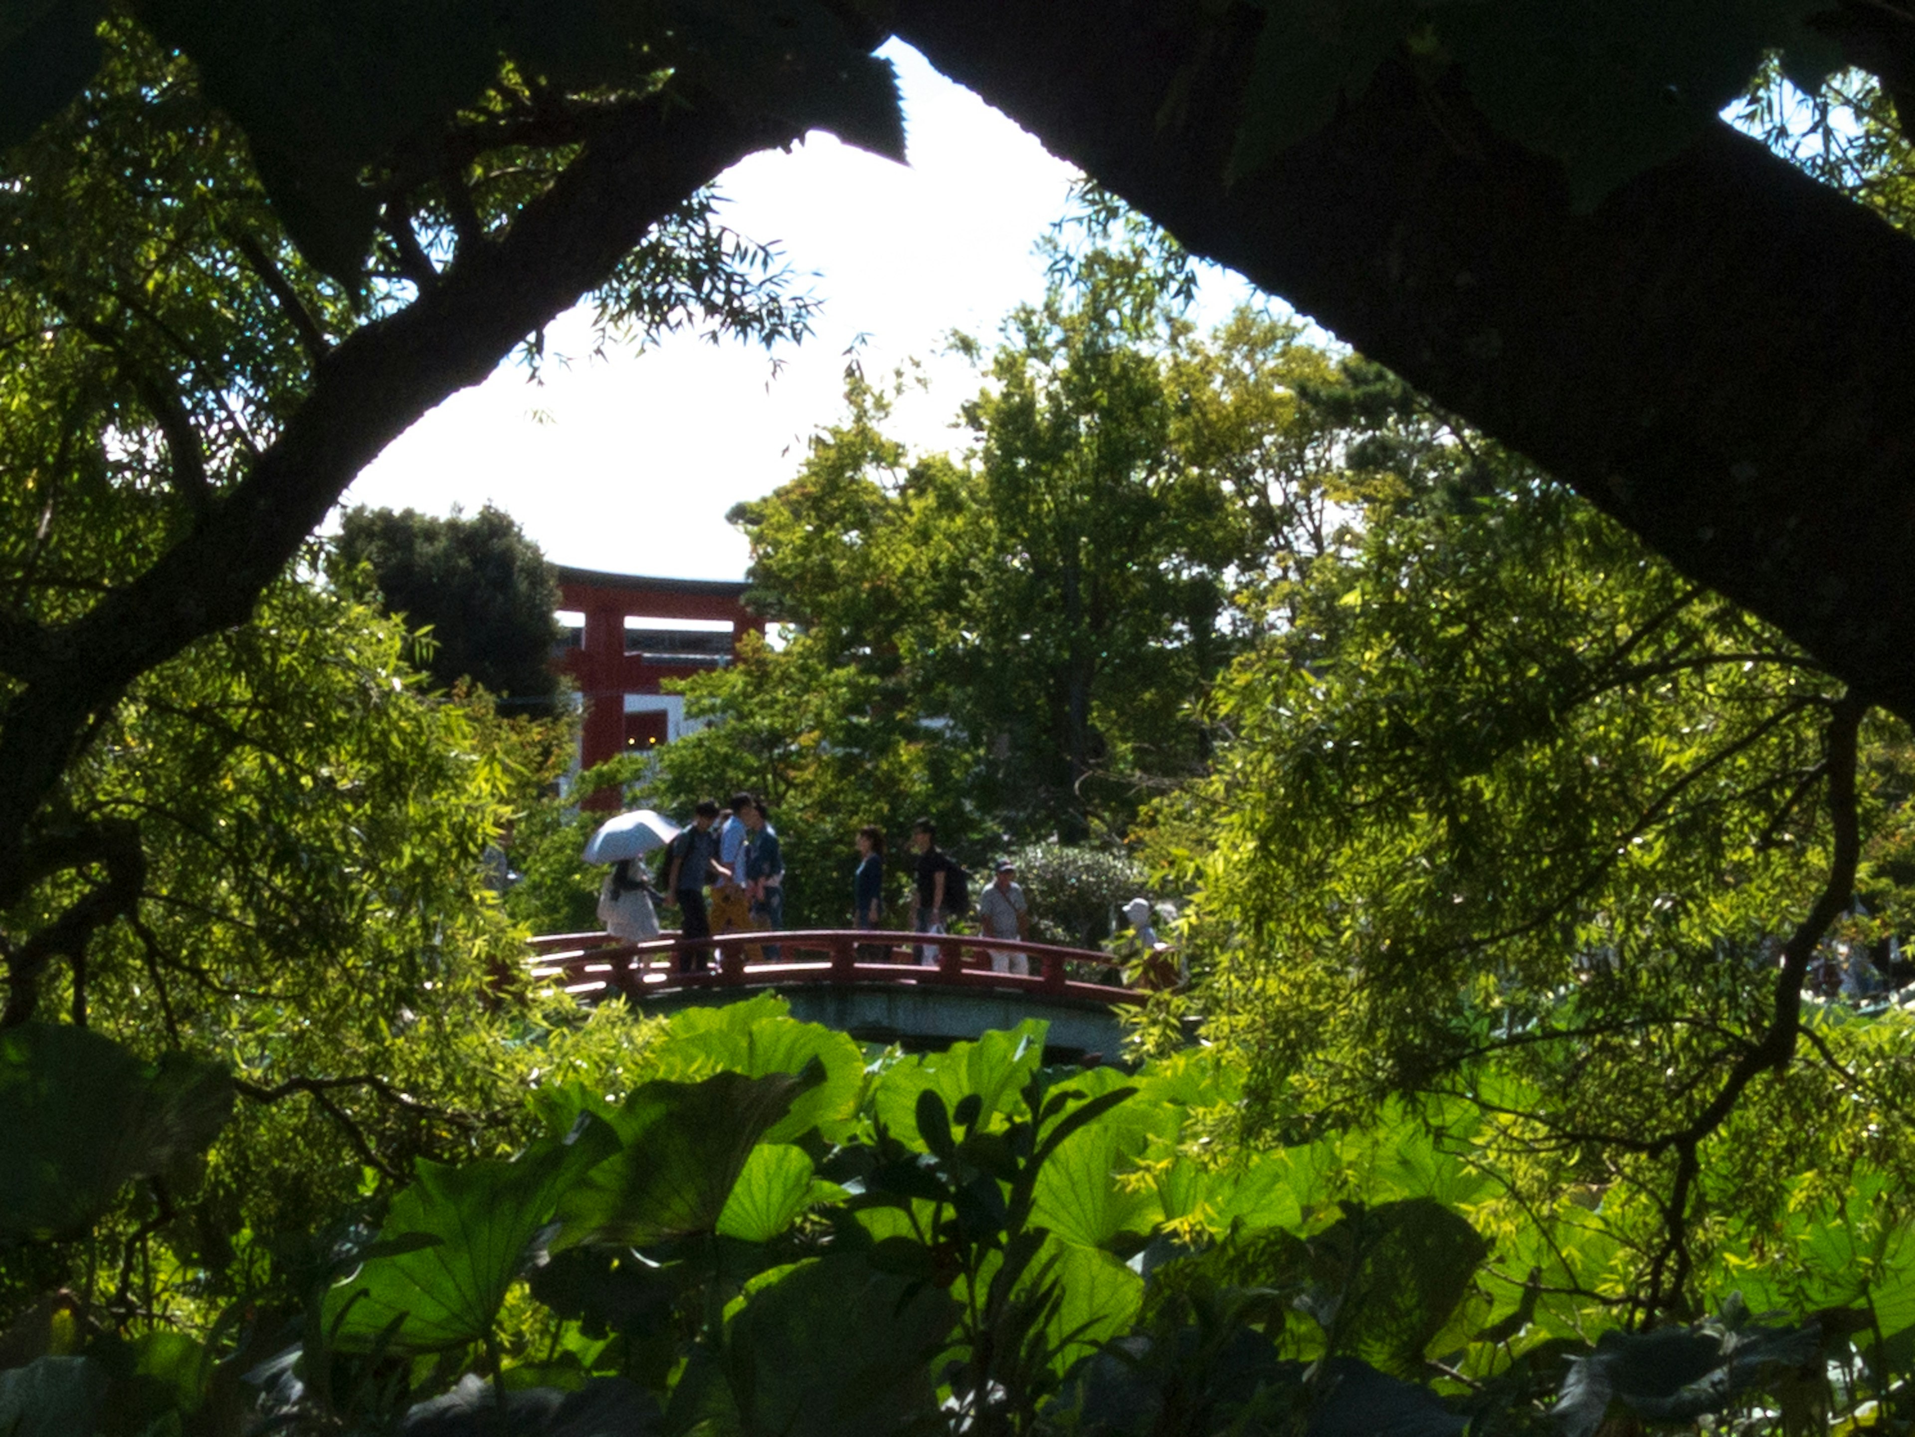
POLYGON ((1907 734, 1499 469, 1373 504, 1318 565, 1220 682, 1231 738, 1159 851, 1197 881, 1193 1002, 1252 1067, 1252 1125, 1476 1107, 1511 1211, 1589 1184, 1624 1295, 1681 1311, 1791 1184, 1915 1161, 1865 1096, 1900 1060, 1804 998, 1825 941, 1907 924, 1907 734))

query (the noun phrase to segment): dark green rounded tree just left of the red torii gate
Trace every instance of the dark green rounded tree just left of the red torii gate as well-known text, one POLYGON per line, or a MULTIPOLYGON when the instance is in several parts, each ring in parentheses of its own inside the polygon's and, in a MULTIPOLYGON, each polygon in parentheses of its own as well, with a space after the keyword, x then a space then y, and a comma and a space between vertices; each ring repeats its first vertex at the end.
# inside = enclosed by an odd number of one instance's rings
POLYGON ((385 607, 429 630, 417 667, 440 688, 467 678, 517 713, 552 711, 559 690, 559 579, 517 521, 486 504, 471 519, 347 510, 337 561, 370 565, 385 607))

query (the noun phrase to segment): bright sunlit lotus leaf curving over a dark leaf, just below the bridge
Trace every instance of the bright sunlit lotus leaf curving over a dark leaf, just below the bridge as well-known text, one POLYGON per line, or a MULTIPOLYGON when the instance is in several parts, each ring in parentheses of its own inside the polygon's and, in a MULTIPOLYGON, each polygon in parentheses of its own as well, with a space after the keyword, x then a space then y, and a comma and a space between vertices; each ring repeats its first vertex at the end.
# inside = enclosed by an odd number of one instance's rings
POLYGON ((864 1050, 823 1023, 800 1023, 783 998, 758 996, 714 1008, 686 1008, 672 1015, 668 1035, 655 1048, 657 1077, 691 1083, 712 1073, 802 1073, 814 1058, 825 1081, 800 1092, 766 1142, 791 1142, 812 1129, 835 1136, 858 1111, 864 1094, 864 1050))

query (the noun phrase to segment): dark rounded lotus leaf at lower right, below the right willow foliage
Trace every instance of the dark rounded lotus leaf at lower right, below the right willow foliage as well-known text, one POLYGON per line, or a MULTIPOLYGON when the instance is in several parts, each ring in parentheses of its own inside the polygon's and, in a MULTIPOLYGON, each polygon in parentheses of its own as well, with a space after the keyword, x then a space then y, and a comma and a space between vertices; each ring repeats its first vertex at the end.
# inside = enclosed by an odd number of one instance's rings
POLYGON ((1352 1205, 1312 1236, 1308 1249, 1310 1286, 1300 1305, 1329 1334, 1337 1355, 1415 1374, 1440 1334, 1476 1326, 1465 1299, 1475 1295, 1490 1245, 1429 1198, 1352 1205))

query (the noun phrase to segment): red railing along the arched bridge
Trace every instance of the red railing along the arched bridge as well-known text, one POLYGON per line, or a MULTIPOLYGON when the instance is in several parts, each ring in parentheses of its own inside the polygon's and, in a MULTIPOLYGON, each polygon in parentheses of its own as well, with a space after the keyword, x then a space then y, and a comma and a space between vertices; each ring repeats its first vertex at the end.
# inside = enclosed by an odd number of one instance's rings
POLYGON ((1111 968, 1111 958, 1055 943, 839 927, 714 933, 709 939, 665 935, 643 943, 626 943, 611 933, 553 933, 532 939, 530 958, 536 981, 557 983, 578 996, 607 987, 653 998, 691 989, 783 983, 940 983, 1099 1004, 1141 1002, 1145 996, 1113 983, 1072 977, 1072 966, 1099 971, 1111 968), (710 956, 710 968, 682 971, 684 956, 701 948, 710 956), (913 948, 935 952, 936 962, 919 964, 913 948), (998 971, 994 954, 1025 954, 1030 973, 998 971))

